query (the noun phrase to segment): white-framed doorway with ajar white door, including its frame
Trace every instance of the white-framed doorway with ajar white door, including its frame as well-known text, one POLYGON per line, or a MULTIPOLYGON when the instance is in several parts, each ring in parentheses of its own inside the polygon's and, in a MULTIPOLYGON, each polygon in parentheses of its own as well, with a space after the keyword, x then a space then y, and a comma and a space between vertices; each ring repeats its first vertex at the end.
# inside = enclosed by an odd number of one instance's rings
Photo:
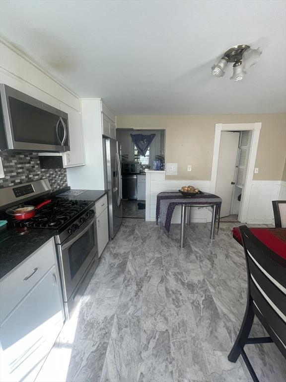
POLYGON ((211 192, 222 198, 222 221, 247 222, 261 123, 215 125, 211 192))

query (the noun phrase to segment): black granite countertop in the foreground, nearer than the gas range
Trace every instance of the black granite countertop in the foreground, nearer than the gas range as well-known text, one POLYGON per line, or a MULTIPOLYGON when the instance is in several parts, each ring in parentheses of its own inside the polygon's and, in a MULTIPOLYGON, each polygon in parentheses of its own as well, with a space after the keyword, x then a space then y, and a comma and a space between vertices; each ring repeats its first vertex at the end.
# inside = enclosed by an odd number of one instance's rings
POLYGON ((53 229, 31 229, 24 235, 16 228, 0 232, 0 279, 55 235, 53 229))

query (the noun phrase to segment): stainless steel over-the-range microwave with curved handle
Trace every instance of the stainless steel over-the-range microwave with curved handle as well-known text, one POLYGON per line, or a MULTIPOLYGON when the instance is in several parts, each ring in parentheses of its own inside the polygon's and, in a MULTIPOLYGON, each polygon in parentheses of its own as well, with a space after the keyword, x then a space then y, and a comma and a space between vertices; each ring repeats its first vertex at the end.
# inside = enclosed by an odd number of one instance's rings
POLYGON ((0 150, 70 150, 68 114, 0 84, 0 150))

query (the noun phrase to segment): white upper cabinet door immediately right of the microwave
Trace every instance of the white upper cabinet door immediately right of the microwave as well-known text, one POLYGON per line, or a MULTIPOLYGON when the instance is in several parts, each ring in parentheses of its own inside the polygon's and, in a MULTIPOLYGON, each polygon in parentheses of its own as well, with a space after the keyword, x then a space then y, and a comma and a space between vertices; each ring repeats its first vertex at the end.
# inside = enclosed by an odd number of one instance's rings
POLYGON ((84 165, 84 148, 81 115, 70 106, 61 103, 61 110, 69 115, 69 134, 71 151, 62 153, 64 168, 84 165))

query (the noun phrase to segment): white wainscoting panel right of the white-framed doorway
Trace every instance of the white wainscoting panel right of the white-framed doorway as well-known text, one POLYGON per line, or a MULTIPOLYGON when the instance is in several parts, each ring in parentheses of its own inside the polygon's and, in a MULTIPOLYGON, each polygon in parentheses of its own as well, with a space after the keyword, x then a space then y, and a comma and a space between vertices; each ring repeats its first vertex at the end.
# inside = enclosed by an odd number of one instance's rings
POLYGON ((281 183, 281 181, 252 181, 247 223, 274 223, 272 200, 278 200, 280 193, 283 192, 281 183))

